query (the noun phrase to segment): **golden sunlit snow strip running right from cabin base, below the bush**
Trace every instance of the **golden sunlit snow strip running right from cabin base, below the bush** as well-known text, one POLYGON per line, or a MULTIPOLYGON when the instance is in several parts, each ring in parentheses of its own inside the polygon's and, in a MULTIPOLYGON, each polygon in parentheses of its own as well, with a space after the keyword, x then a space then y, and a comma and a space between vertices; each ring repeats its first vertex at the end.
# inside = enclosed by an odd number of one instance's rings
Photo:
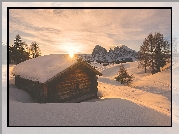
POLYGON ((171 102, 162 95, 145 92, 136 88, 130 88, 122 85, 112 85, 99 82, 98 90, 102 98, 122 98, 134 102, 167 116, 171 115, 171 102))

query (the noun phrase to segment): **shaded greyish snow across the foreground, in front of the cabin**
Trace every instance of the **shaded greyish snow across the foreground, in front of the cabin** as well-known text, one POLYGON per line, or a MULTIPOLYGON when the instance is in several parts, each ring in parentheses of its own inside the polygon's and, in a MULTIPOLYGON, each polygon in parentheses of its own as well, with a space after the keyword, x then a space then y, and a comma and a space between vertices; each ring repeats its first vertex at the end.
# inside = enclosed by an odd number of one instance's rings
MULTIPOLYGON (((10 68, 12 70, 13 66, 10 68)), ((13 78, 11 75, 10 78, 13 78)), ((13 82, 13 81, 11 81, 13 82)), ((170 117, 127 99, 37 104, 10 83, 10 126, 167 126, 170 117), (21 103, 23 102, 23 103, 21 103), (53 109, 53 110, 52 110, 53 109)), ((108 91, 109 92, 109 91, 108 91)))

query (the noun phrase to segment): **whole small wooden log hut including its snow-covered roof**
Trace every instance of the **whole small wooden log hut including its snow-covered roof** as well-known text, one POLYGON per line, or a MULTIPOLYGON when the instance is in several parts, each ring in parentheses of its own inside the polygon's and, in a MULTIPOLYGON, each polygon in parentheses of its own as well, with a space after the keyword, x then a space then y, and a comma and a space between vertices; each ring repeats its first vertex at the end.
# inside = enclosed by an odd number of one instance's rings
POLYGON ((58 55, 51 57, 52 61, 58 62, 50 61, 47 56, 47 60, 45 60, 45 56, 41 56, 25 61, 22 63, 23 65, 21 63, 17 65, 14 68, 17 88, 27 91, 40 103, 81 102, 97 98, 98 77, 96 75, 102 75, 100 72, 82 60, 68 61, 67 56, 58 58, 58 55), (60 60, 61 62, 59 62, 60 60), (29 67, 29 65, 33 67, 29 67), (31 72, 29 72, 30 70, 31 72), (32 72, 33 70, 38 74, 32 72))

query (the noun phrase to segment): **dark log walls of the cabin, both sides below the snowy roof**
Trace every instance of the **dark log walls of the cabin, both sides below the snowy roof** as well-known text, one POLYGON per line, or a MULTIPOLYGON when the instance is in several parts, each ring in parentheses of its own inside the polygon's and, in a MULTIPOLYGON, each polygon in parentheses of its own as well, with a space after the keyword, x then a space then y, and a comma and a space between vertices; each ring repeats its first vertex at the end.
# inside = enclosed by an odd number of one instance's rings
POLYGON ((89 68, 80 65, 48 83, 34 82, 15 76, 15 85, 28 92, 37 102, 76 102, 97 97, 97 77, 89 68))

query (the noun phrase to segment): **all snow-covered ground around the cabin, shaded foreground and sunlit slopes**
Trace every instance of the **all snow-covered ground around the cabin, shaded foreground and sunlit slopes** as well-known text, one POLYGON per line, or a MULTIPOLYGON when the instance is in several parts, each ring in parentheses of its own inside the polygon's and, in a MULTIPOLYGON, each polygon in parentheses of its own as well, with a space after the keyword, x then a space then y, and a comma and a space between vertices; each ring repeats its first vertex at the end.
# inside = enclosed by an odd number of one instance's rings
MULTIPOLYGON (((170 126, 170 70, 150 75, 138 70, 137 63, 125 63, 135 76, 132 87, 114 80, 119 65, 96 64, 103 73, 98 79, 101 99, 82 103, 37 104, 14 85, 10 65, 9 125, 10 126, 170 126), (166 78, 168 77, 168 78, 166 78), (155 78, 155 79, 154 79, 155 78), (147 79, 150 81, 146 82, 147 79), (144 81, 144 82, 143 82, 144 81), (157 82, 156 82, 157 81, 157 82), (141 84, 142 83, 142 84, 141 84), (165 85, 162 85, 165 83, 165 85), (141 85, 141 86, 140 86, 141 85)), ((6 66, 3 66, 5 70, 6 66)), ((3 86, 6 73, 3 72, 3 86)), ((3 91, 5 92, 5 91, 3 91)), ((174 103, 177 107, 178 104, 174 103)), ((174 111, 178 113, 178 111, 174 111)), ((178 116, 173 116, 178 122, 178 116)))

